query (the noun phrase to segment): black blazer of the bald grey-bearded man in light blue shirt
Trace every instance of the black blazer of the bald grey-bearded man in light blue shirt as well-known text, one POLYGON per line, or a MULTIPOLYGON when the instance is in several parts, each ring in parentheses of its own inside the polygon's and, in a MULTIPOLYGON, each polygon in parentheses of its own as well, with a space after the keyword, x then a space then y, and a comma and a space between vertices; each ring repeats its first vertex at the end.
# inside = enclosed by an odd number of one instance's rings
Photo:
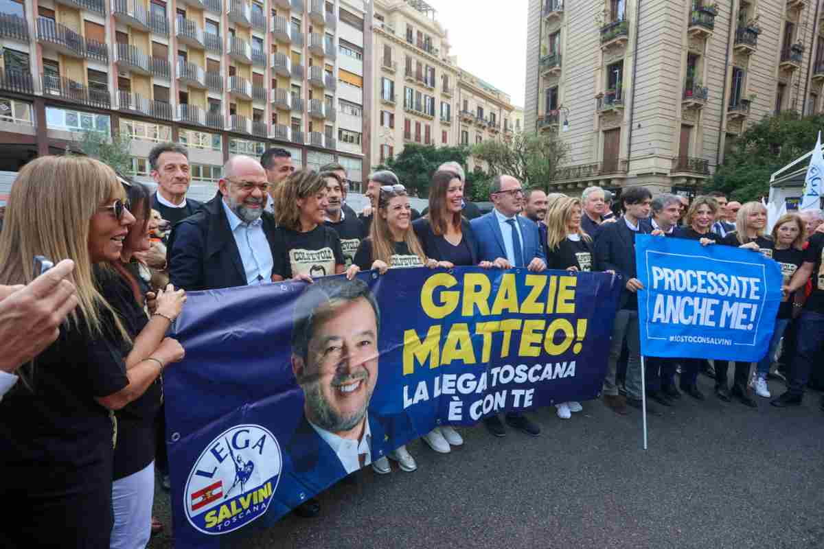
MULTIPOLYGON (((261 219, 272 259, 277 262, 282 253, 273 246, 274 216, 264 212, 261 219)), ((176 225, 167 258, 169 278, 176 288, 198 291, 246 286, 246 270, 220 196, 176 225)))

